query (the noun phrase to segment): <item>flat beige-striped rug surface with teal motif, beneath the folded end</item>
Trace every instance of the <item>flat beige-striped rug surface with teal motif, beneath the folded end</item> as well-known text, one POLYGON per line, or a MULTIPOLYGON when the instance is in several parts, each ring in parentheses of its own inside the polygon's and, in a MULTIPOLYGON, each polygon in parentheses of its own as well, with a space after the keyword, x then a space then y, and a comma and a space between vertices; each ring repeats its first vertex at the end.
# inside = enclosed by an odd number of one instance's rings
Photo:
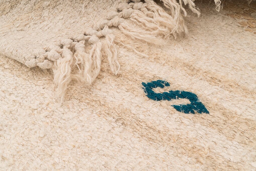
POLYGON ((255 2, 197 6, 188 34, 161 46, 111 28, 120 73, 103 53, 95 81, 70 81, 61 106, 50 69, 1 55, 0 170, 255 170, 255 2))

